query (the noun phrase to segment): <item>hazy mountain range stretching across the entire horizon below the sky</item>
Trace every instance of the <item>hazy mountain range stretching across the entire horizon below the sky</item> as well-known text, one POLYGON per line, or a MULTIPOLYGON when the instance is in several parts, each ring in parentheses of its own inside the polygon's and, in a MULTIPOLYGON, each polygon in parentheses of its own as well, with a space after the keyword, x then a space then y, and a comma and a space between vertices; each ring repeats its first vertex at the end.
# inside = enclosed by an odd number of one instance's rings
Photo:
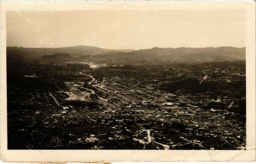
POLYGON ((61 48, 6 47, 7 60, 65 61, 99 59, 103 61, 242 61, 245 47, 103 49, 93 46, 61 48))

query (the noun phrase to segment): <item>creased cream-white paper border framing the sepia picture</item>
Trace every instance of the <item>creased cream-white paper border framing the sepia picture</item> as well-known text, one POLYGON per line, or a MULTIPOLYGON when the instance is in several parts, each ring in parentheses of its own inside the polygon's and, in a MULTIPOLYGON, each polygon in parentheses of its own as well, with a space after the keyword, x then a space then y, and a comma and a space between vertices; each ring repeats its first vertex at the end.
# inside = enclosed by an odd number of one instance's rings
POLYGON ((255 160, 255 2, 239 1, 2 1, 1 2, 1 160, 16 162, 254 161, 255 160), (247 150, 7 150, 6 11, 29 10, 246 10, 247 150))

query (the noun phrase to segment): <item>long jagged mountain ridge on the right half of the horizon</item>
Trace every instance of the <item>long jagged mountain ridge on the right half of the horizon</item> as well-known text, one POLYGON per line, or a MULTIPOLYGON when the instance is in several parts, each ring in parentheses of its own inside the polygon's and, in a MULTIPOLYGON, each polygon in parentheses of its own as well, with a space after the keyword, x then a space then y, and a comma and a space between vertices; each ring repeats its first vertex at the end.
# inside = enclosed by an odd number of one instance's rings
MULTIPOLYGON (((107 54, 107 53, 106 53, 107 54)), ((102 55, 101 55, 102 56, 102 55)), ((108 53, 109 60, 125 61, 241 61, 245 60, 245 47, 158 48, 128 53, 108 53), (129 58, 129 59, 128 59, 129 58)), ((104 56, 102 56, 104 58, 104 56)))

